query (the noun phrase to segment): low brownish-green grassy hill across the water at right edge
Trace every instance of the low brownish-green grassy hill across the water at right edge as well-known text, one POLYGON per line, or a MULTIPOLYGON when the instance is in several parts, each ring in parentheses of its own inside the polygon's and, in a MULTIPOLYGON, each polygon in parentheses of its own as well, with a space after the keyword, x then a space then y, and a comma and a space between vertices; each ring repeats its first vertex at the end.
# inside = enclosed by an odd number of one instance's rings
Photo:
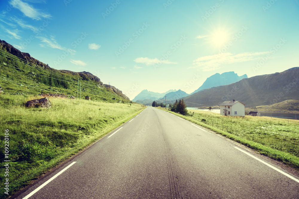
POLYGON ((286 100, 268 106, 251 107, 248 110, 258 111, 286 111, 286 112, 299 112, 299 100, 286 100))

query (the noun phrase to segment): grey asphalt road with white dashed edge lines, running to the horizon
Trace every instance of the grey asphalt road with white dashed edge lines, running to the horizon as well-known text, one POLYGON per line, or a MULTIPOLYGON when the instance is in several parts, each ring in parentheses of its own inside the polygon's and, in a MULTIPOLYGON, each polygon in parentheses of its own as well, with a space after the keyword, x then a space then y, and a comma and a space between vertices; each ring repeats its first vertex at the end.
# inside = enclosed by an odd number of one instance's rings
POLYGON ((58 172, 30 198, 299 198, 298 177, 239 149, 148 107, 18 198, 58 172))

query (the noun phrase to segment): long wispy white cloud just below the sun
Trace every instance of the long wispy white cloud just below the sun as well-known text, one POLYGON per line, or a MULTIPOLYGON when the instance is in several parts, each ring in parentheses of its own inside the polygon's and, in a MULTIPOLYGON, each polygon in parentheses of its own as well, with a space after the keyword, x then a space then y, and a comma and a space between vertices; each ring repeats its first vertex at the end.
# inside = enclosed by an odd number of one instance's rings
POLYGON ((257 52, 257 53, 223 53, 222 55, 208 55, 204 57, 197 58, 193 61, 195 67, 190 68, 199 68, 203 71, 211 71, 222 68, 222 64, 234 64, 244 61, 250 61, 259 59, 270 52, 257 52))

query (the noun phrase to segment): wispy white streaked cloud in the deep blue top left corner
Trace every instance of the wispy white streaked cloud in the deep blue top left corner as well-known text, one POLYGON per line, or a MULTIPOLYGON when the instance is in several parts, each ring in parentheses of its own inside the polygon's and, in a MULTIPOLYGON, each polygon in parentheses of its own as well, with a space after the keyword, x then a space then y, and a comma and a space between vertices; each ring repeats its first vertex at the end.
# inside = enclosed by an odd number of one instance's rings
POLYGON ((19 9, 25 16, 41 20, 42 18, 51 18, 51 15, 48 13, 43 13, 41 10, 35 9, 32 5, 25 3, 21 0, 11 0, 9 2, 14 8, 19 9))

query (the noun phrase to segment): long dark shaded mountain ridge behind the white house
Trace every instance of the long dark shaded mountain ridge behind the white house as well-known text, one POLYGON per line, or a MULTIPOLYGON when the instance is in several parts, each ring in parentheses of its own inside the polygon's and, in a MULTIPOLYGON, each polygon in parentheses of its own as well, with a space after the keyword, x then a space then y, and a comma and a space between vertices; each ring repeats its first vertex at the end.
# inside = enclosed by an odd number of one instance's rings
POLYGON ((285 100, 299 100, 299 67, 205 89, 187 96, 184 101, 187 106, 201 107, 216 106, 223 101, 233 99, 241 101, 245 107, 271 105, 285 100))

